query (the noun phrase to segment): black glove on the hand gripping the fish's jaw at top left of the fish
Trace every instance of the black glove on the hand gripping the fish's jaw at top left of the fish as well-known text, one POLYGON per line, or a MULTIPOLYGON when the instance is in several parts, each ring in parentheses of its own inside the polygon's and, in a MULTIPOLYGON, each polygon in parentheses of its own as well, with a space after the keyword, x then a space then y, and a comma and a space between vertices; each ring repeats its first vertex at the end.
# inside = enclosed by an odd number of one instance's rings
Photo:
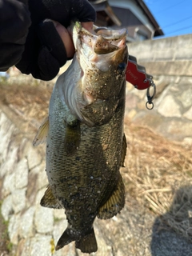
POLYGON ((50 80, 66 63, 66 50, 53 22, 70 26, 70 22, 94 22, 95 10, 86 0, 29 0, 32 25, 26 38, 25 51, 16 65, 22 73, 50 80))

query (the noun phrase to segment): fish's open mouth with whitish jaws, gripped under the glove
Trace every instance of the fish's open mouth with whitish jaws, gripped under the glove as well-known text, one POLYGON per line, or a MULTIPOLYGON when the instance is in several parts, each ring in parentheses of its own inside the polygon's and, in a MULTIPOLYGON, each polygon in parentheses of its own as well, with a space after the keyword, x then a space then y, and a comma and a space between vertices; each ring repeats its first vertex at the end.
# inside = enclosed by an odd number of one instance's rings
POLYGON ((88 31, 75 22, 73 27, 73 41, 77 60, 82 68, 82 77, 87 70, 97 68, 102 72, 108 71, 114 62, 122 62, 122 50, 126 48, 127 30, 110 30, 106 27, 93 26, 88 31), (103 56, 105 55, 105 57, 103 56))

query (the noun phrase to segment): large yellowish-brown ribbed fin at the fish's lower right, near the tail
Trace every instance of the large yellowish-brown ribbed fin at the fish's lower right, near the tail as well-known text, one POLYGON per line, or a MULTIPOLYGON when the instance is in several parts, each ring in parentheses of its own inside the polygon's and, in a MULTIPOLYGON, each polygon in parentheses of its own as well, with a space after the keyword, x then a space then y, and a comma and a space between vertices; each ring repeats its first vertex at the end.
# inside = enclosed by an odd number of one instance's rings
POLYGON ((125 186, 122 182, 122 176, 119 175, 118 185, 115 187, 110 198, 98 210, 98 218, 112 218, 118 214, 125 205, 125 186))

